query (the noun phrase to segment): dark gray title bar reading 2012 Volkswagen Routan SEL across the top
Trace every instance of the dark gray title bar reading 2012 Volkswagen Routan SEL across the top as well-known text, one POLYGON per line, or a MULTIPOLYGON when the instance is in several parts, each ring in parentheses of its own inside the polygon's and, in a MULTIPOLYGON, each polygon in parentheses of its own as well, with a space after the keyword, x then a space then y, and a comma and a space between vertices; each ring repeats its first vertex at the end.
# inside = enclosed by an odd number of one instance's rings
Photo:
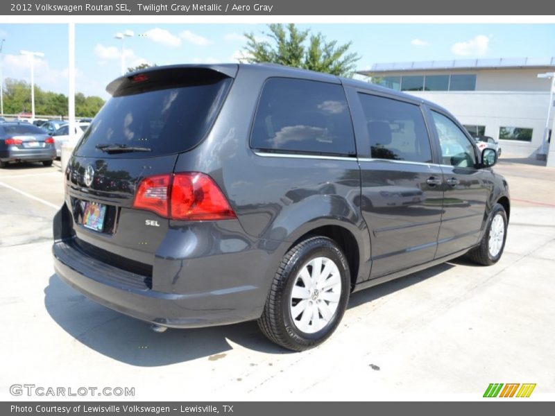
POLYGON ((44 0, 0 2, 1 15, 555 15, 545 0, 44 0))

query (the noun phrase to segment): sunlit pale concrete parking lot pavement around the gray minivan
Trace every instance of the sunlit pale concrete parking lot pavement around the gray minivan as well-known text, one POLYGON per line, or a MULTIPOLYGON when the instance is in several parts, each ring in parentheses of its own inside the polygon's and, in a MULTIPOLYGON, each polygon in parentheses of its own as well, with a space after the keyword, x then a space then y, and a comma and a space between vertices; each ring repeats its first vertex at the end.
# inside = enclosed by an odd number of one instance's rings
POLYGON ((480 399, 489 383, 537 383, 532 398, 553 399, 555 170, 496 169, 513 198, 499 263, 457 260, 355 293, 334 336, 301 354, 253 322, 159 334, 87 300, 52 268, 59 164, 0 170, 0 399, 14 383, 151 400, 480 399))

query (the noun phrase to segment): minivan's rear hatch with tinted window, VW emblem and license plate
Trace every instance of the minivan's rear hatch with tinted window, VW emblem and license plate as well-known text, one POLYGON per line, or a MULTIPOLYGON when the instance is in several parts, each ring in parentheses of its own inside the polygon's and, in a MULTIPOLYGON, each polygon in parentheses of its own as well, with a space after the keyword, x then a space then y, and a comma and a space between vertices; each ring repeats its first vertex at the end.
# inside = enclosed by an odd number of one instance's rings
POLYGON ((74 240, 87 254, 151 276, 167 216, 133 207, 146 177, 173 172, 178 154, 212 128, 236 65, 160 67, 108 85, 112 98, 80 139, 66 171, 74 240))

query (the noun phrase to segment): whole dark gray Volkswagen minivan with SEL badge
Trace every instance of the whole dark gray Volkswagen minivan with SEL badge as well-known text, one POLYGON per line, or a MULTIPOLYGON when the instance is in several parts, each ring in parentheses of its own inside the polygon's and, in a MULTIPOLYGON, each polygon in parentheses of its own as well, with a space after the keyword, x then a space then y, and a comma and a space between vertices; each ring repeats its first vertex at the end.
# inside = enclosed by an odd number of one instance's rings
POLYGON ((122 76, 65 172, 62 280, 164 327, 328 338, 352 291, 501 257, 509 188, 446 110, 276 65, 122 76))

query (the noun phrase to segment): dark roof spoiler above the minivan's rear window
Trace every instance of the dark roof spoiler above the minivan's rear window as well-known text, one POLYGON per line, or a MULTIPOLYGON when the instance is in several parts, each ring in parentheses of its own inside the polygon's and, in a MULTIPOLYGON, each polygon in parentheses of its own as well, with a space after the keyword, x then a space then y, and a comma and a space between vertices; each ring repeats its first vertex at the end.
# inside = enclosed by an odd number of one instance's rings
MULTIPOLYGON (((149 85, 149 89, 157 89, 162 84, 187 85, 198 83, 200 78, 235 78, 239 64, 208 64, 208 65, 166 65, 163 67, 149 67, 126 73, 113 80, 106 87, 111 96, 133 94, 137 86, 149 85)), ((141 88, 144 91, 144 88, 141 88)))

